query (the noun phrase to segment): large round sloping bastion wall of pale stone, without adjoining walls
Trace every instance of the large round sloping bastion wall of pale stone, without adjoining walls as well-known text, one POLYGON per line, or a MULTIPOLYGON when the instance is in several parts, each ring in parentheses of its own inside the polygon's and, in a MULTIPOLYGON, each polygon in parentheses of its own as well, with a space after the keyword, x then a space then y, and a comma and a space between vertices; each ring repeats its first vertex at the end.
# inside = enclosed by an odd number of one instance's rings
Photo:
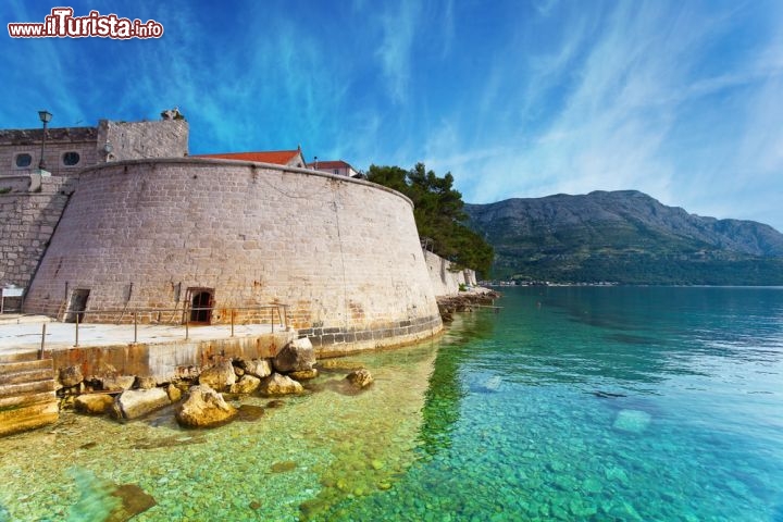
POLYGON ((175 308, 201 290, 213 323, 235 307, 288 304, 324 355, 443 327, 407 198, 344 176, 204 159, 83 171, 25 311, 58 315, 74 291, 88 291, 87 311, 175 308))

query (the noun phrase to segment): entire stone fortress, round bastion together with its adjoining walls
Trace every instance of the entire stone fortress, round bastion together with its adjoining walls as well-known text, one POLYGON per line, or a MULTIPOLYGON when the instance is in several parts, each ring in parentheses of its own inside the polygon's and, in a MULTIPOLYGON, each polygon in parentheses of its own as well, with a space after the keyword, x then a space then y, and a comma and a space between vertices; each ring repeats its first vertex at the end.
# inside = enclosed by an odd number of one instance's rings
POLYGON ((185 158, 184 120, 49 128, 47 171, 41 138, 0 130, 0 287, 24 288, 25 312, 73 320, 64 311, 78 296, 87 322, 128 322, 102 311, 142 308, 177 309, 141 319, 175 322, 207 293, 210 323, 286 304, 328 355, 434 335, 435 296, 475 284, 422 251, 403 196, 311 170, 185 158))

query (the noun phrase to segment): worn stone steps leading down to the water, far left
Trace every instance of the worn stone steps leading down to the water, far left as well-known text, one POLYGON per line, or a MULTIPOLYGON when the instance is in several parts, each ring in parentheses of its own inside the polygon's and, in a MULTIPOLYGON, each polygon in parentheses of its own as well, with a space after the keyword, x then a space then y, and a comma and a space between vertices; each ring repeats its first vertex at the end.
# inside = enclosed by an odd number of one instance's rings
POLYGON ((0 436, 33 430, 57 421, 54 365, 37 353, 0 357, 0 436))

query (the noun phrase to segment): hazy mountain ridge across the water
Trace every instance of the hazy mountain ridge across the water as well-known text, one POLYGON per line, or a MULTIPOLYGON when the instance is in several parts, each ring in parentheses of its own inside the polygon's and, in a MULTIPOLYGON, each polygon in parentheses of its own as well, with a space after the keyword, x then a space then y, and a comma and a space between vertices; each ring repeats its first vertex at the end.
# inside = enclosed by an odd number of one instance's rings
POLYGON ((716 220, 636 190, 465 204, 495 275, 625 284, 783 285, 783 234, 716 220))

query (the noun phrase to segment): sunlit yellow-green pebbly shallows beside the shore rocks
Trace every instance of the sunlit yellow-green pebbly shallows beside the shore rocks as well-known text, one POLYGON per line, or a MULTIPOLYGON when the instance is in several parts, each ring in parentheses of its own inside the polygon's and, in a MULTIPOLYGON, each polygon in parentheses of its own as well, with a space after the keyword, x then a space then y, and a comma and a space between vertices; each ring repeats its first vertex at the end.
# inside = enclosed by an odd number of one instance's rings
POLYGON ((173 407, 124 424, 65 411, 2 440, 0 521, 112 520, 109 492, 125 484, 157 502, 135 521, 318 519, 390 489, 413 461, 435 352, 325 360, 303 395, 236 397, 250 414, 213 430, 181 428, 173 407), (345 376, 362 366, 375 382, 356 391, 345 376))

